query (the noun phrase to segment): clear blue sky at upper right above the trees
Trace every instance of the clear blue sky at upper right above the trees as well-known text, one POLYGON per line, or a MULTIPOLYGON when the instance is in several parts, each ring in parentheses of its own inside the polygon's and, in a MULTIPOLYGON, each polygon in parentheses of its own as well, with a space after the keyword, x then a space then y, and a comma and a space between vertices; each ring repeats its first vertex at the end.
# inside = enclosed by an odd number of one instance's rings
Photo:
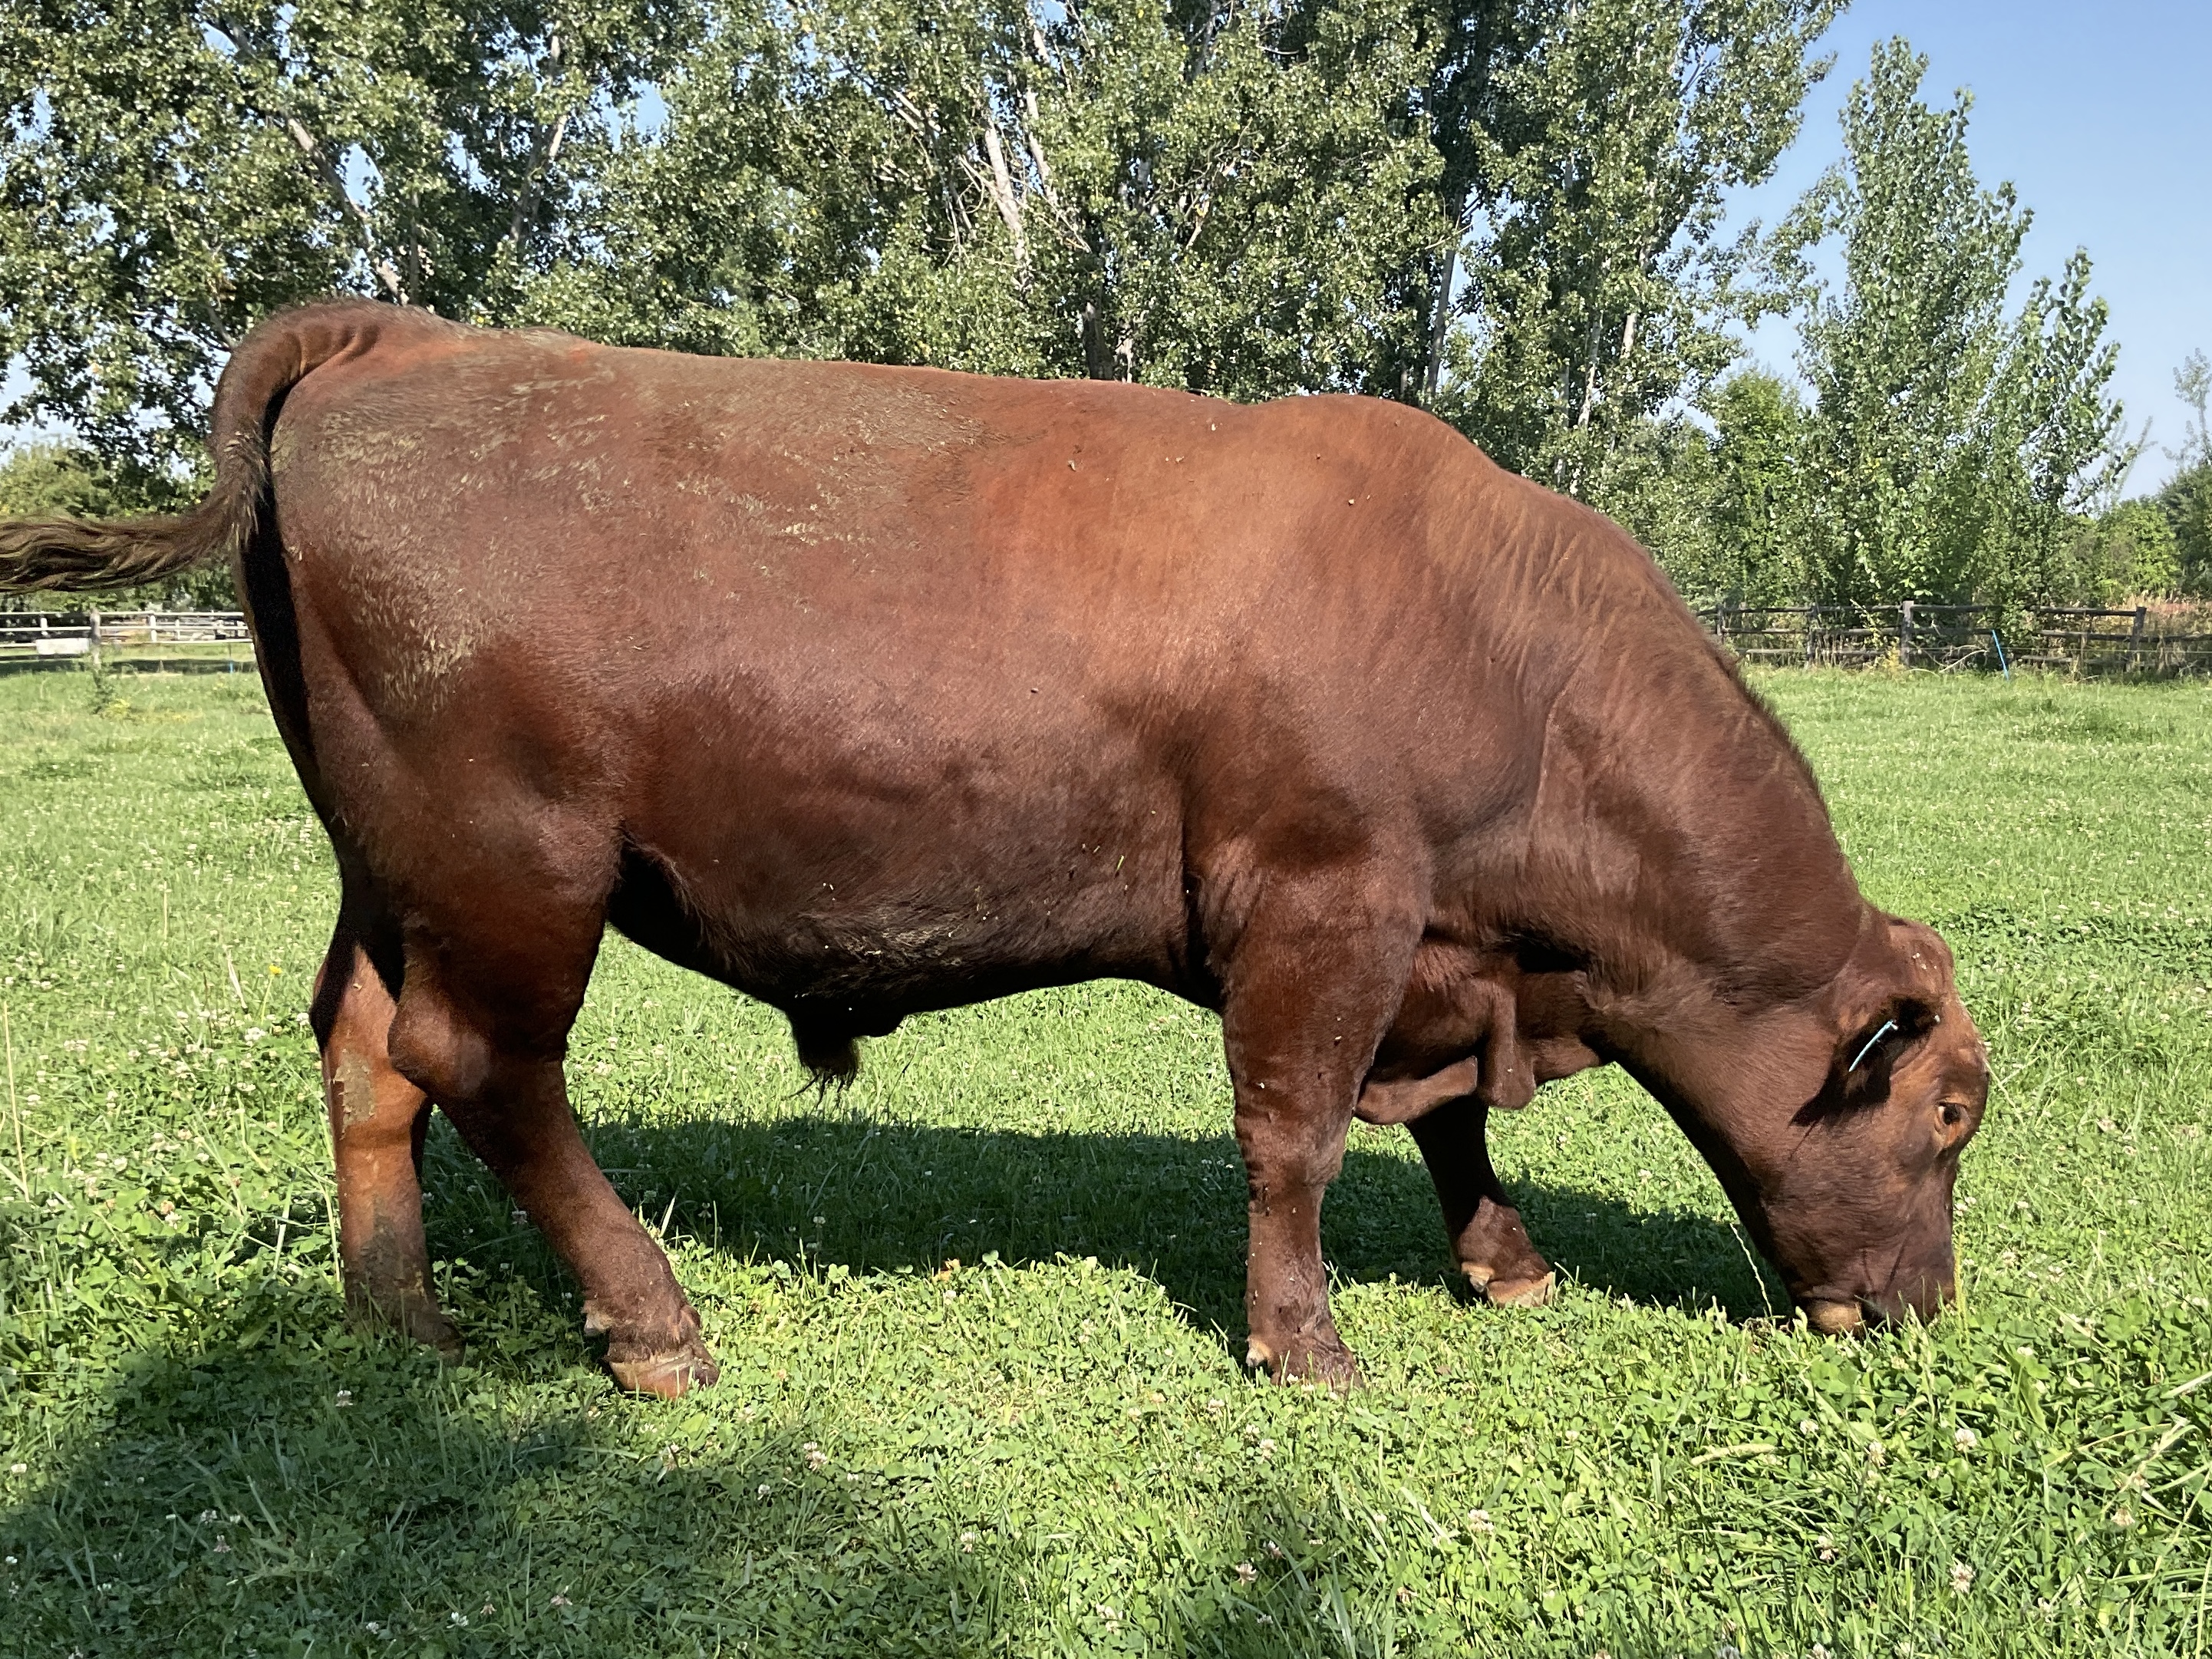
MULTIPOLYGON (((2154 489, 2179 445, 2174 367, 2212 354, 2212 2, 2208 0, 1858 0, 1827 35, 1836 69, 1814 88, 1805 131, 1781 170, 1732 204, 1734 223, 1774 223, 1843 153, 1836 111, 1874 42, 1905 35, 1929 58, 1922 95, 1973 91, 1966 144, 1984 184, 2011 179, 2035 210, 2024 279, 2059 272, 2088 248, 2112 307, 2115 389, 2152 447, 2128 480, 2154 489)), ((1796 336, 1770 321, 1752 354, 1790 369, 1796 336)))

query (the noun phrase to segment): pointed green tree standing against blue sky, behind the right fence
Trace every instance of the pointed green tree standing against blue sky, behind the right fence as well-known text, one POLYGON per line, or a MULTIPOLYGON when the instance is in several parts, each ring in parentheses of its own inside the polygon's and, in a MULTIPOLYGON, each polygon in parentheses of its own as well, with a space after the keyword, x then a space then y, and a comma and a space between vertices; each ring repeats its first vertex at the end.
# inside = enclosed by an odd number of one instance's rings
POLYGON ((1781 270, 1812 290, 1803 522, 1823 604, 2042 597, 2070 515, 2124 473, 2088 254, 2006 316, 2028 215, 1973 175, 1971 97, 1929 108, 1924 73, 1902 40, 1876 46, 1843 111, 1845 161, 1776 239, 1781 270), (1836 290, 1807 276, 1829 239, 1836 290))

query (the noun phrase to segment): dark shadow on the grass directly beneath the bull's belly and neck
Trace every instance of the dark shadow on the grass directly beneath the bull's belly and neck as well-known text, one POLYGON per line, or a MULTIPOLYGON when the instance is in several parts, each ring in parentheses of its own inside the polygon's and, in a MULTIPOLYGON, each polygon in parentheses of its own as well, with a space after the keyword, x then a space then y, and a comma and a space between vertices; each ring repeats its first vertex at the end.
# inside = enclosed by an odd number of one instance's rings
MULTIPOLYGON (((1323 1210, 1329 1267, 1340 1281, 1458 1292, 1429 1177, 1409 1144, 1385 1139, 1402 1135, 1354 1130, 1323 1210)), ((772 1121, 602 1117, 586 1137, 648 1221, 737 1256, 854 1272, 1097 1256, 1152 1276, 1201 1329, 1243 1332, 1245 1183, 1228 1135, 940 1128, 865 1119, 830 1099, 772 1121)), ((551 1281, 535 1232, 515 1225, 504 1192, 445 1130, 425 1188, 434 1259, 504 1261, 551 1281)), ((1743 1237, 1712 1217, 1637 1212, 1573 1186, 1511 1188, 1537 1250, 1590 1290, 1719 1305, 1739 1321, 1790 1305, 1743 1237)))

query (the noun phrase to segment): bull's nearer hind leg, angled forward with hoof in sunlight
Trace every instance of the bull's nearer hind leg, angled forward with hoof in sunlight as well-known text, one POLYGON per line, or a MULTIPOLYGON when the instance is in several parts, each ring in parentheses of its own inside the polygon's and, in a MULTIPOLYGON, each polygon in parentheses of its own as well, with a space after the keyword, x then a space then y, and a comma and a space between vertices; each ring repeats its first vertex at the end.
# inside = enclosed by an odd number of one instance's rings
POLYGON ((453 1119, 575 1272, 584 1329, 606 1336, 615 1380, 666 1398, 712 1385, 699 1314, 568 1108, 562 1055, 599 916, 551 891, 509 898, 471 891, 467 940, 409 929, 394 1064, 453 1119))

